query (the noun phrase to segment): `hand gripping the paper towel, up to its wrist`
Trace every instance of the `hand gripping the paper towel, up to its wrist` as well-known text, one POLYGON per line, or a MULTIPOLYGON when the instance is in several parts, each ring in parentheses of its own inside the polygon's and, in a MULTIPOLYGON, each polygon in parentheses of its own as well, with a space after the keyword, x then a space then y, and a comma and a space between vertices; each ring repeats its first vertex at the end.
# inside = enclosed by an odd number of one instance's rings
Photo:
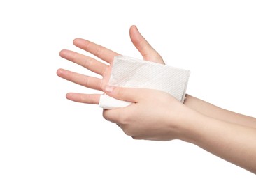
POLYGON ((134 102, 128 107, 104 110, 106 120, 118 124, 134 139, 169 141, 182 139, 181 130, 196 113, 169 93, 145 88, 106 86, 104 92, 118 100, 134 102))

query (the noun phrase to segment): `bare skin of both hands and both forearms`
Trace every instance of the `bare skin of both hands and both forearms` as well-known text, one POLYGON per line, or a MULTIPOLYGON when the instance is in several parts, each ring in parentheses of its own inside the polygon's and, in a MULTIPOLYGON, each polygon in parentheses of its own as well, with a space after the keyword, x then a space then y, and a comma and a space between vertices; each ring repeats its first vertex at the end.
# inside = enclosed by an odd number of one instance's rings
MULTIPOLYGON (((141 36, 136 26, 131 26, 129 33, 131 42, 144 60, 164 64, 162 57, 141 36)), ((59 55, 100 74, 102 78, 64 69, 57 70, 57 75, 81 86, 104 91, 116 99, 134 102, 128 107, 103 111, 104 118, 116 123, 125 134, 134 139, 187 141, 256 173, 256 118, 216 107, 191 95, 186 95, 182 104, 162 91, 108 86, 113 57, 118 53, 81 38, 73 40, 73 44, 106 63, 70 50, 62 50, 59 55)), ((99 96, 66 94, 67 99, 86 104, 98 104, 99 96)))

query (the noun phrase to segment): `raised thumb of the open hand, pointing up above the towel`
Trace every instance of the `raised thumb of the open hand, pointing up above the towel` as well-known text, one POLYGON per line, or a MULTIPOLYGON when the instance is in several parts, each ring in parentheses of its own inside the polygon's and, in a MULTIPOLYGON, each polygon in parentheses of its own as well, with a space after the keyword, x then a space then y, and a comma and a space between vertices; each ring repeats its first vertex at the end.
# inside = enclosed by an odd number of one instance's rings
POLYGON ((164 64, 162 57, 151 47, 148 41, 143 38, 136 26, 131 26, 129 33, 131 42, 134 44, 136 49, 138 49, 138 52, 141 53, 144 60, 164 64))

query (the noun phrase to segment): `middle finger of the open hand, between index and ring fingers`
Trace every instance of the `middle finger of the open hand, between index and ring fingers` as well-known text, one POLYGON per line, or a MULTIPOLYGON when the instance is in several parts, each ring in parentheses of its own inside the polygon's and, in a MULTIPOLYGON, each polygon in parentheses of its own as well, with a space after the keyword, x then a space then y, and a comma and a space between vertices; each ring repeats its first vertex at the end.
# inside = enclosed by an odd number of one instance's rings
POLYGON ((63 49, 61 52, 59 52, 59 56, 101 75, 103 75, 108 68, 108 65, 96 61, 94 58, 66 49, 63 49))

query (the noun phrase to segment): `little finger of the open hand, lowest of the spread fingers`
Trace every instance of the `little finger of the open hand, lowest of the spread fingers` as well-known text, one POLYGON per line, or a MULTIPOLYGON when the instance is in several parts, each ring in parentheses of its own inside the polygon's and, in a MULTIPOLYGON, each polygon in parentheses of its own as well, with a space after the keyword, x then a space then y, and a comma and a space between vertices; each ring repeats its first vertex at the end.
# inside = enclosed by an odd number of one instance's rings
POLYGON ((99 104, 99 94, 67 93, 66 98, 74 102, 85 104, 99 104))

